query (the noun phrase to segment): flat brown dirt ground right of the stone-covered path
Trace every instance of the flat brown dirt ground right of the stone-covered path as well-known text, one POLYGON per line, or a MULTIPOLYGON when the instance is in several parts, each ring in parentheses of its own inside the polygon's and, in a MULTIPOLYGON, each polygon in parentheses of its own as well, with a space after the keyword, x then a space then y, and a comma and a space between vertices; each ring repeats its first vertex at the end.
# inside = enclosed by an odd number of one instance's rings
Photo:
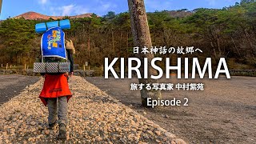
POLYGON ((256 78, 232 77, 218 80, 169 80, 160 82, 202 82, 204 91, 162 91, 163 99, 189 98, 189 106, 145 109, 138 91, 130 91, 136 79, 86 78, 126 106, 190 143, 256 143, 256 78))

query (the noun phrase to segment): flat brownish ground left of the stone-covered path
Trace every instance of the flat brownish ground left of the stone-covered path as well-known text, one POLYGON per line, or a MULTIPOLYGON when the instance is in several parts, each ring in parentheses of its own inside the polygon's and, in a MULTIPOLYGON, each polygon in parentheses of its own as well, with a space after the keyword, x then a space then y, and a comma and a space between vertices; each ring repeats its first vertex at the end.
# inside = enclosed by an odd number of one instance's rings
POLYGON ((38 77, 0 74, 0 105, 19 94, 26 86, 38 82, 38 77))

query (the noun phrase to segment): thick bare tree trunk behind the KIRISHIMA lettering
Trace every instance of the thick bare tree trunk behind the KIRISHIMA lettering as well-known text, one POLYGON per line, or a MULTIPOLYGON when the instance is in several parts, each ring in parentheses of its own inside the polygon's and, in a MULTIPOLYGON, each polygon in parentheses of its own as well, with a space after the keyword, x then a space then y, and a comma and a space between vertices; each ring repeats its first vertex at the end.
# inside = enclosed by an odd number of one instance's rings
MULTIPOLYGON (((134 37, 134 46, 140 48, 146 46, 151 48, 152 42, 150 38, 150 29, 147 22, 146 10, 144 5, 144 0, 128 0, 129 10, 130 10, 130 22, 132 28, 132 34, 134 37)), ((148 71, 149 75, 156 75, 157 71, 150 65, 151 60, 154 58, 154 54, 137 54, 138 58, 141 59, 142 66, 140 67, 141 74, 144 74, 144 58, 148 58, 148 71)), ((157 83, 157 80, 152 78, 138 79, 138 82, 147 83, 157 83)), ((141 90, 142 106, 147 106, 147 98, 161 99, 162 95, 158 90, 146 90, 145 88, 141 90)))

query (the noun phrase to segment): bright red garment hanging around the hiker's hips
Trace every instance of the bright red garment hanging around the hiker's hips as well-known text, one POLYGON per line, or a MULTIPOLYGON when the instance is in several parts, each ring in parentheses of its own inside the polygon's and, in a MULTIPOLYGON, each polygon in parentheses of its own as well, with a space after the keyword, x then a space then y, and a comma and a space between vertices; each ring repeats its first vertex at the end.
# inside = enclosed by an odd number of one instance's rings
POLYGON ((72 97, 70 88, 67 82, 67 74, 46 74, 45 82, 42 87, 42 92, 39 95, 42 103, 47 105, 47 98, 66 97, 66 100, 72 97))

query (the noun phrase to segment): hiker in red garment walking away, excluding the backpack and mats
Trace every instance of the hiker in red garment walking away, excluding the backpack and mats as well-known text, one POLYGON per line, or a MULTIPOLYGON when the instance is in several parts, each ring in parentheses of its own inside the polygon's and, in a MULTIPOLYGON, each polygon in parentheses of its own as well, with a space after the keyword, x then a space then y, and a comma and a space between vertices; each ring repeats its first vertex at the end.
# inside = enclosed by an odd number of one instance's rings
MULTIPOLYGON (((56 73, 56 74, 42 74, 45 78, 42 92, 39 98, 45 106, 48 107, 48 126, 49 129, 54 129, 58 123, 58 138, 66 139, 66 126, 68 124, 67 110, 68 101, 72 97, 68 86, 68 78, 74 74, 74 60, 73 54, 75 49, 73 42, 66 41, 66 53, 68 61, 70 62, 70 74, 56 73), (58 119, 58 121, 57 121, 58 119)), ((49 61, 56 61, 56 58, 48 58, 49 61)))

